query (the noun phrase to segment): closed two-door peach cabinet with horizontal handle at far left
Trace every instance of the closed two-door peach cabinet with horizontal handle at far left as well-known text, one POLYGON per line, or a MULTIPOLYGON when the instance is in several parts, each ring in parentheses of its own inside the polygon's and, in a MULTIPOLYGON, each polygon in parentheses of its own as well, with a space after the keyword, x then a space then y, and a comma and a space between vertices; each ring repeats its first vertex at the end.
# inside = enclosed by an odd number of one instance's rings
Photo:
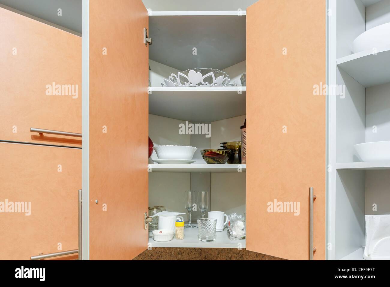
POLYGON ((81 134, 30 128, 81 133, 81 37, 1 7, 0 43, 0 259, 75 254, 81 134))

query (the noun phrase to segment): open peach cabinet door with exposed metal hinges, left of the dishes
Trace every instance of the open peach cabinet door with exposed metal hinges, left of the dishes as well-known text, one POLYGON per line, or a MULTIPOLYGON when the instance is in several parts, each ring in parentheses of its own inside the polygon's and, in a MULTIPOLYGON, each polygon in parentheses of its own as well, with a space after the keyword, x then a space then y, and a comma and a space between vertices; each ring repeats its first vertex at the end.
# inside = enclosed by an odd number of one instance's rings
POLYGON ((89 2, 89 258, 147 248, 148 13, 141 0, 89 2), (98 200, 98 203, 95 203, 98 200))

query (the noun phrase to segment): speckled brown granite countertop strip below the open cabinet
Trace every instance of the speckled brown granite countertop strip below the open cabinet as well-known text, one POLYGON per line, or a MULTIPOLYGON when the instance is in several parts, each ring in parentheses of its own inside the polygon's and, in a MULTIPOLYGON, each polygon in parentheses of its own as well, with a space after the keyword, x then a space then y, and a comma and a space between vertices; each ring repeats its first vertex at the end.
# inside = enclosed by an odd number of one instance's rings
POLYGON ((286 260, 245 248, 170 248, 154 247, 133 260, 286 260))

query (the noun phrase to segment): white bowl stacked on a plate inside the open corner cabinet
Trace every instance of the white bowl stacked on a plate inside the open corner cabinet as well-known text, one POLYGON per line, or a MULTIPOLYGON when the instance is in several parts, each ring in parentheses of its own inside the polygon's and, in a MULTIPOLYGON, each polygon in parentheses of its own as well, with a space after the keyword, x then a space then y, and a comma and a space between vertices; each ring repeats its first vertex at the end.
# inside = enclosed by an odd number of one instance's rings
POLYGON ((194 146, 153 146, 158 159, 153 160, 158 164, 191 164, 196 160, 192 160, 197 148, 194 146))

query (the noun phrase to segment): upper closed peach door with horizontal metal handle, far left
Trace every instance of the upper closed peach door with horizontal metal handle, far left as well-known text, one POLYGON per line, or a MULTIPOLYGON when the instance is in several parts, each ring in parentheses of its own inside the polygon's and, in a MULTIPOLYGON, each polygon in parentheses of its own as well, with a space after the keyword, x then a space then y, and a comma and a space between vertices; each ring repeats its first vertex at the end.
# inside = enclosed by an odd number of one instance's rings
POLYGON ((0 140, 81 147, 30 132, 81 133, 81 37, 0 8, 0 55, 0 140))

